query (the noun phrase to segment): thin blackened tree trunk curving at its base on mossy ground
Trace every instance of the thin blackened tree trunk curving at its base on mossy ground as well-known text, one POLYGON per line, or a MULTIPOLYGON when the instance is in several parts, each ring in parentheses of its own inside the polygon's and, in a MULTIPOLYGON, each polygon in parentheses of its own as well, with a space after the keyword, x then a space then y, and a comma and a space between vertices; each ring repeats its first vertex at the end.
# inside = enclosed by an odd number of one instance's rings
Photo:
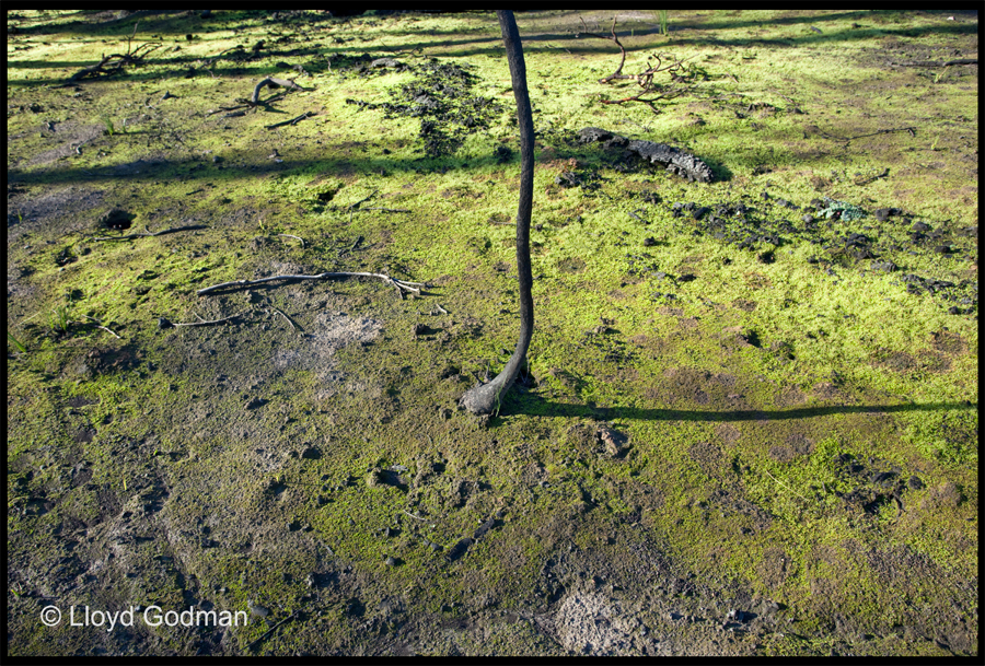
POLYGON ((513 80, 513 96, 517 98, 517 120, 520 124, 520 206, 517 211, 517 272, 520 278, 520 340, 507 366, 495 379, 483 384, 462 396, 461 405, 473 413, 491 413, 498 409, 500 399, 513 385, 517 373, 526 357, 533 336, 533 274, 530 269, 530 215, 533 209, 533 114, 530 94, 526 91, 526 65, 523 62, 523 47, 513 12, 497 10, 502 40, 506 45, 510 77, 513 80))

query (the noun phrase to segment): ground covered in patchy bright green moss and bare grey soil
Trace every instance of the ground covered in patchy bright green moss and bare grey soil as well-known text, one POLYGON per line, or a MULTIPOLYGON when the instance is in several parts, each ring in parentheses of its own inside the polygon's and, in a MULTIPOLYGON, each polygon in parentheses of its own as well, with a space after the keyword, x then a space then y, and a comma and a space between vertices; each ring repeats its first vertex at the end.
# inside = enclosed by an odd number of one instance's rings
POLYGON ((671 12, 664 36, 619 13, 625 71, 662 52, 700 73, 659 114, 600 103, 625 96, 596 82, 618 52, 581 19, 612 16, 518 16, 536 332, 476 419, 455 401, 519 325, 493 14, 8 13, 8 331, 27 349, 8 347, 9 654, 977 652, 977 66, 913 65, 976 58, 976 15, 671 12), (62 85, 138 20, 132 46, 162 45, 142 66, 62 85), (368 65, 389 56, 409 69, 368 65), (433 62, 500 105, 453 154, 346 104, 433 62), (210 114, 285 72, 305 90, 210 114), (717 182, 621 171, 573 141, 588 126, 717 182), (555 182, 571 170, 600 188, 555 182), (905 214, 809 229, 824 196, 905 214), (674 217, 692 201, 742 201, 783 242, 740 249, 737 222, 674 217), (111 208, 125 234, 206 229, 96 241, 111 208), (854 258, 850 233, 900 270, 854 258), (328 270, 429 285, 196 294, 328 270), (250 604, 271 612, 39 621, 250 604))

